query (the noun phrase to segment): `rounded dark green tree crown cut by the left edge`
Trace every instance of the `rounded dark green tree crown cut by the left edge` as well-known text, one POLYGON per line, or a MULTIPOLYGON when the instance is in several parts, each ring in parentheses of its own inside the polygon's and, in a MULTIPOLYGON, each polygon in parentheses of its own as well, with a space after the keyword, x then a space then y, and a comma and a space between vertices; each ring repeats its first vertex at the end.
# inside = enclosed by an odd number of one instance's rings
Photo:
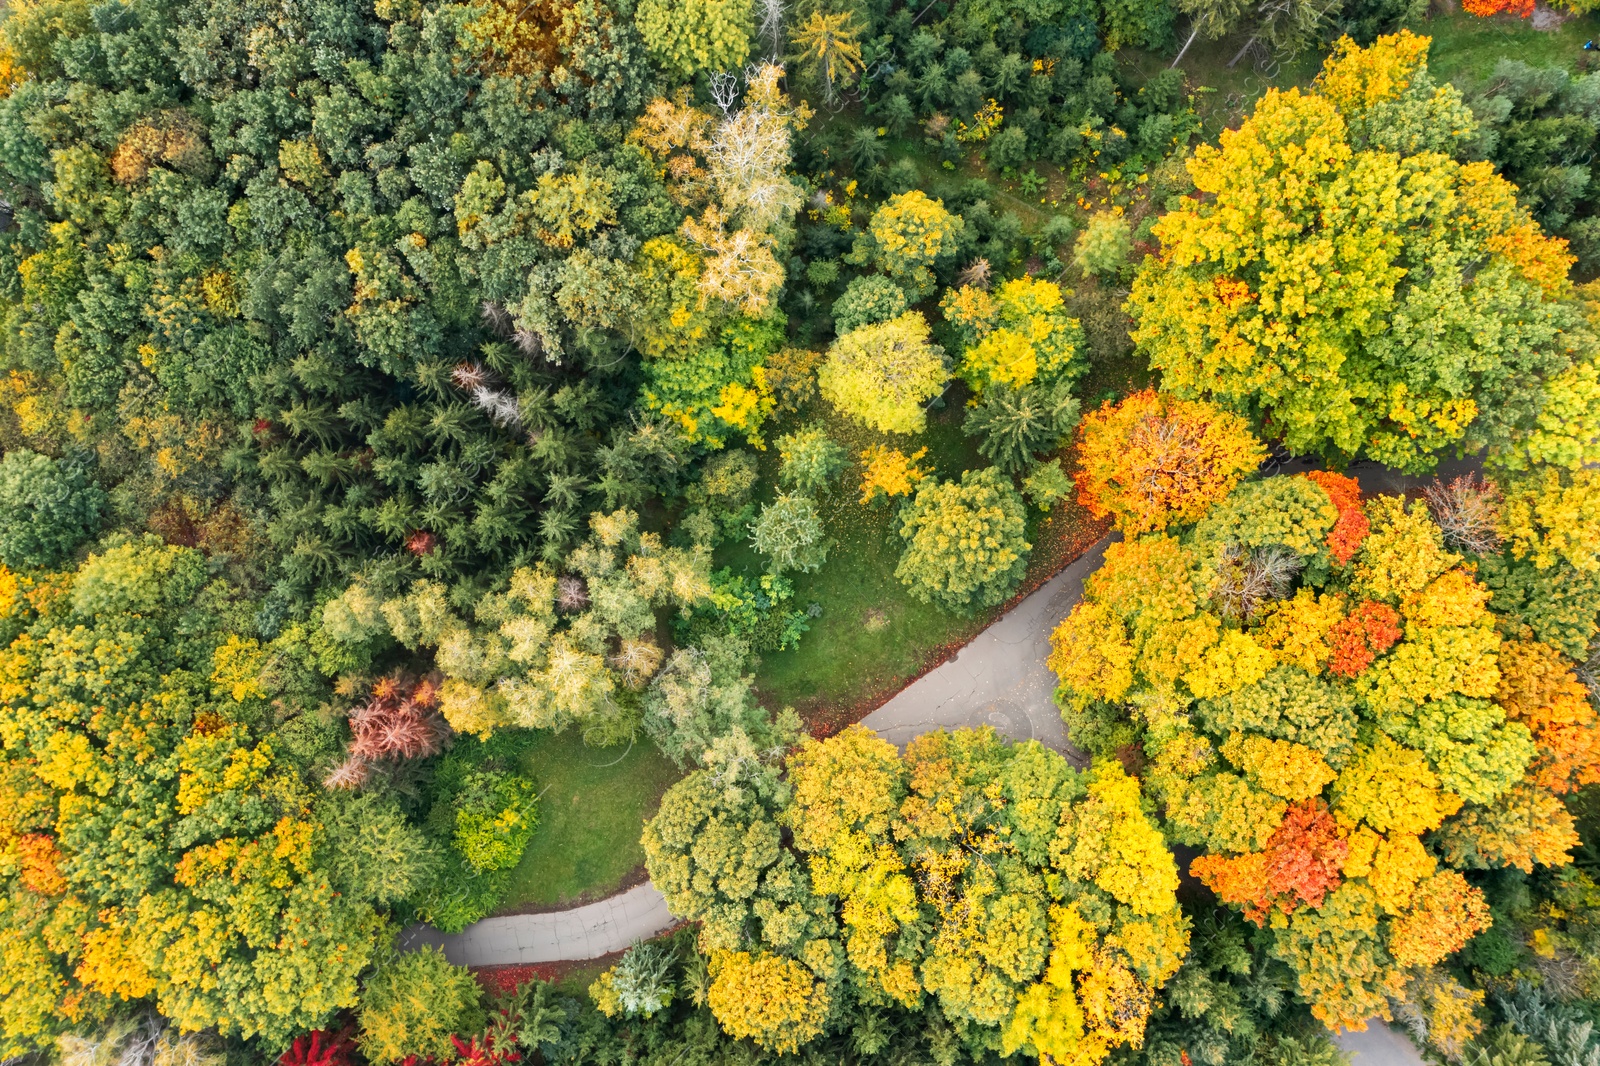
POLYGON ((0 562, 54 567, 99 527, 106 493, 72 463, 18 448, 0 459, 0 562))

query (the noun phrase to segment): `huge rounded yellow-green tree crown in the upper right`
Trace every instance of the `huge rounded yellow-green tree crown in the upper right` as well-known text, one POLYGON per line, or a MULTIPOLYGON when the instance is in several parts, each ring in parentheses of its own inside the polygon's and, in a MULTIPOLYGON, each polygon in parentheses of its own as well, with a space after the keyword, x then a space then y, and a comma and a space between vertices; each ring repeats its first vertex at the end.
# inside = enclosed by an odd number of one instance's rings
POLYGON ((1573 258, 1485 162, 1427 38, 1339 42, 1189 160, 1128 298, 1166 389, 1246 410, 1294 451, 1426 471, 1507 448, 1571 365, 1573 258))

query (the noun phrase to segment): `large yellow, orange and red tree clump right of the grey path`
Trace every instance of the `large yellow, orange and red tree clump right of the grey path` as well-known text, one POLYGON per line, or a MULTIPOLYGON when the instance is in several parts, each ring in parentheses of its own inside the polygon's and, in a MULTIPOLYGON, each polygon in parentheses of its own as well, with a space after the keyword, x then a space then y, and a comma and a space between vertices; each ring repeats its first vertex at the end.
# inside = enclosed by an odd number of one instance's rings
POLYGON ((1432 1010, 1490 924, 1462 871, 1578 842, 1558 795, 1600 776, 1600 728, 1573 659, 1491 611, 1488 560, 1424 501, 1315 474, 1168 517, 1107 549, 1054 634, 1074 738, 1142 747, 1190 872, 1328 1026, 1432 1010))

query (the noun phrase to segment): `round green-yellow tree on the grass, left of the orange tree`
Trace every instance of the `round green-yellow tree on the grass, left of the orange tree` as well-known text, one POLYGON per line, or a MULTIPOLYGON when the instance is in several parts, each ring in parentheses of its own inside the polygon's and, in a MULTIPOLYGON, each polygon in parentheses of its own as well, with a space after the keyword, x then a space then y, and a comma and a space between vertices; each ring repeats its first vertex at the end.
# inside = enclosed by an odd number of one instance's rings
POLYGON ((1022 498, 1000 471, 917 490, 901 522, 906 551, 894 576, 925 603, 971 613, 1003 603, 1027 573, 1022 498))

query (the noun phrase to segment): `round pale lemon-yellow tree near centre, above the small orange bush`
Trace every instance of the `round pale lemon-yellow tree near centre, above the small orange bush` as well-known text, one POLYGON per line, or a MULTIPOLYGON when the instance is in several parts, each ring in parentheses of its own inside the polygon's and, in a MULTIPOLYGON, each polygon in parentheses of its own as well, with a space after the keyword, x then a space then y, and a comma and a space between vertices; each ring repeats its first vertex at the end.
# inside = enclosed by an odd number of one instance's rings
POLYGON ((910 311, 834 341, 818 386, 824 400, 878 432, 918 434, 928 424, 923 405, 949 378, 944 349, 930 339, 926 319, 910 311))

